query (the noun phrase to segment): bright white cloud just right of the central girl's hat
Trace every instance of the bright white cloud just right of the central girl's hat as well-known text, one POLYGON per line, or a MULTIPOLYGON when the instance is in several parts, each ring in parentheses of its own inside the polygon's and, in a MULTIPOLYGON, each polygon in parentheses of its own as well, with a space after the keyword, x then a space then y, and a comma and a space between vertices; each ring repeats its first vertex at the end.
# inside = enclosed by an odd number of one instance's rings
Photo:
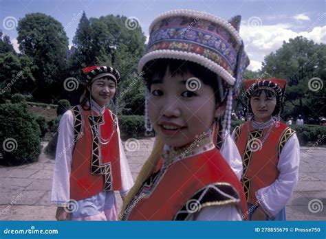
POLYGON ((326 25, 303 32, 294 32, 290 28, 291 25, 285 24, 261 25, 254 29, 250 25, 241 25, 240 35, 251 61, 248 69, 254 71, 259 69, 266 55, 276 52, 283 45, 283 41, 288 42, 290 38, 296 36, 304 36, 315 43, 326 44, 326 25))

